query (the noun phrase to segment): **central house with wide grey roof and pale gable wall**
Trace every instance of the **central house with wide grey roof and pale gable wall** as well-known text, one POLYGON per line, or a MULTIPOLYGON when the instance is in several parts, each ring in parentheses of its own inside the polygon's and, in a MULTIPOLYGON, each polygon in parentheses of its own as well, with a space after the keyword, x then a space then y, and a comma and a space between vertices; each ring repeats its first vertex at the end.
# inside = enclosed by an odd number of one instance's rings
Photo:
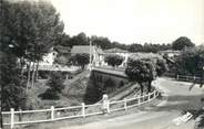
POLYGON ((86 53, 86 54, 92 54, 93 56, 93 61, 92 61, 92 65, 94 66, 99 66, 101 65, 103 58, 103 51, 95 46, 95 45, 74 45, 71 50, 71 55, 74 54, 80 54, 80 53, 86 53))

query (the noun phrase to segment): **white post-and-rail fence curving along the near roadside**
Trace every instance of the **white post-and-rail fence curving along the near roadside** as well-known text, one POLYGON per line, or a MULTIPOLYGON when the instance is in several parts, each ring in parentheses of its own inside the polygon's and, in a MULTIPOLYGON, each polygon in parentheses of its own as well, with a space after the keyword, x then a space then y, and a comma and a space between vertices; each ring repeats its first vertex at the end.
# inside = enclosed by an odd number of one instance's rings
MULTIPOLYGON (((131 107, 140 106, 145 104, 150 100, 153 100, 160 95, 159 90, 154 90, 153 93, 149 93, 143 96, 135 96, 132 98, 125 98, 123 100, 118 101, 110 101, 106 105, 106 112, 111 114, 118 110, 126 110, 131 107)), ((11 108, 10 111, 3 111, 3 126, 10 126, 11 129, 16 125, 28 125, 28 123, 40 123, 40 122, 48 122, 48 121, 57 121, 63 119, 71 119, 71 118, 80 118, 80 117, 88 117, 93 115, 101 115, 104 114, 104 109, 102 104, 94 104, 94 105, 85 105, 81 104, 81 106, 73 106, 73 107, 63 107, 63 108, 54 108, 51 106, 50 109, 40 109, 40 110, 20 110, 16 111, 11 108)))

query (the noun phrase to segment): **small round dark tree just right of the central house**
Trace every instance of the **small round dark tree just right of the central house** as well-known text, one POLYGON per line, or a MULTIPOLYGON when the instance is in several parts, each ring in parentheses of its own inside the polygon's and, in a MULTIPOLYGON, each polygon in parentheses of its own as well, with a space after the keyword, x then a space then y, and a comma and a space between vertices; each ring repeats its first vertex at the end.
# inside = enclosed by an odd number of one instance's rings
POLYGON ((105 62, 113 67, 121 65, 123 61, 124 57, 116 54, 110 54, 105 56, 105 62))

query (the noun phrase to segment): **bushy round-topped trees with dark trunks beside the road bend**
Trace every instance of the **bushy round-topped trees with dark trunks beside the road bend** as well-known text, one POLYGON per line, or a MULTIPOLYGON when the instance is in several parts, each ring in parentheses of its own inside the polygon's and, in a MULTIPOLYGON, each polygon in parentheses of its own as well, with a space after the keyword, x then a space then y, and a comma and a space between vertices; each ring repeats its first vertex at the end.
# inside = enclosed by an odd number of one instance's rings
POLYGON ((125 74, 130 77, 130 80, 135 80, 140 84, 141 93, 143 94, 143 83, 147 83, 150 93, 152 80, 156 76, 161 76, 165 71, 167 71, 167 65, 162 57, 130 57, 125 74))

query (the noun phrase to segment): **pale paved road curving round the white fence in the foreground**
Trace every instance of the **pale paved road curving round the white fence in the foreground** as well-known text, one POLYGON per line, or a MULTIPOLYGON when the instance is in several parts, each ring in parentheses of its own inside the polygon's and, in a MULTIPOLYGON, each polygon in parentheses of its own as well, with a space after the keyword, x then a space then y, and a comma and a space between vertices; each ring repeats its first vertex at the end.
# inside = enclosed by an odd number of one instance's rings
POLYGON ((157 88, 164 92, 166 99, 159 105, 121 117, 60 129, 193 129, 194 120, 178 126, 173 122, 182 111, 193 112, 204 106, 201 101, 204 90, 197 86, 190 90, 190 83, 160 78, 157 88))

